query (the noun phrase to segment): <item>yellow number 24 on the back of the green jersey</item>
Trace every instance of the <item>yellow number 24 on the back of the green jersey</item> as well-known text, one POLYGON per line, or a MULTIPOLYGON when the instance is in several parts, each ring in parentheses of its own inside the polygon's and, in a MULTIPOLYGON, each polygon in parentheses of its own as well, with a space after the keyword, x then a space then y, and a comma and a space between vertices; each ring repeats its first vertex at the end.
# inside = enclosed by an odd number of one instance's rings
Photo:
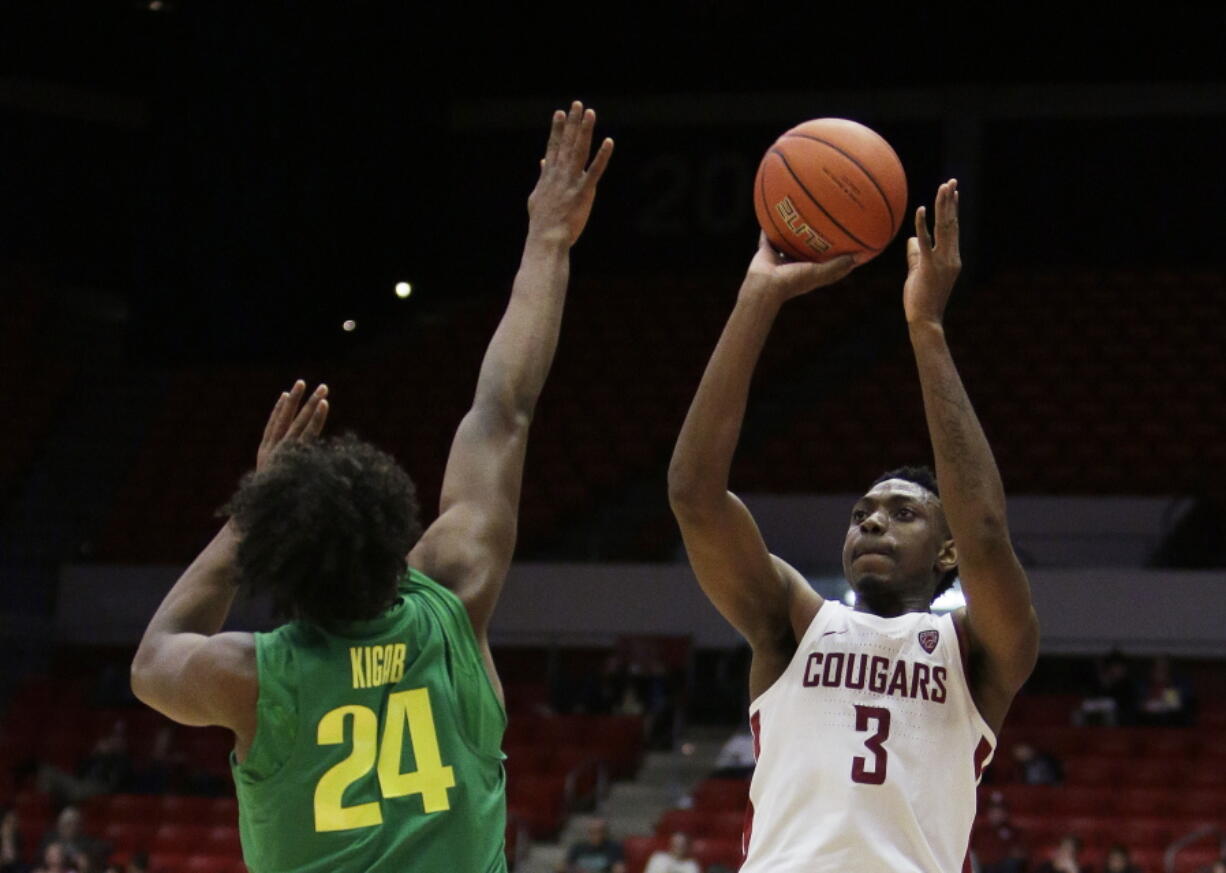
POLYGON ((383 824, 378 801, 343 804, 345 790, 376 766, 379 790, 384 797, 421 795, 427 813, 451 808, 447 788, 455 787, 455 771, 444 766, 439 755, 439 734, 434 730, 434 712, 425 688, 396 692, 387 698, 387 721, 383 741, 379 739, 379 719, 368 706, 337 706, 319 720, 315 737, 319 745, 340 745, 345 742, 345 722, 352 720, 352 749, 348 758, 325 772, 315 786, 315 830, 351 830, 383 824), (405 725, 417 770, 401 772, 405 747, 405 725))

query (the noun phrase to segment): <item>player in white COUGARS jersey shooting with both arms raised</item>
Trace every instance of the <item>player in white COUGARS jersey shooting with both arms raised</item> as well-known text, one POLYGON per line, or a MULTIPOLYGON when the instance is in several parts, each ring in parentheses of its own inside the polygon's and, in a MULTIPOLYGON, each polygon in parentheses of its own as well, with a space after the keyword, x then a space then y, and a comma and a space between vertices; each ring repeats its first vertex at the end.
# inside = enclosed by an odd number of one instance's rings
POLYGON ((677 440, 669 499, 690 563, 753 647, 758 766, 742 873, 962 869, 980 774, 1035 665, 1038 620, 1000 476, 942 326, 961 266, 955 180, 938 190, 935 212, 934 235, 916 212, 902 292, 935 481, 904 468, 856 501, 842 555, 855 609, 824 601, 770 554, 727 489, 780 307, 846 276, 852 257, 787 264, 763 239, 677 440), (955 571, 966 608, 937 617, 929 603, 955 571))

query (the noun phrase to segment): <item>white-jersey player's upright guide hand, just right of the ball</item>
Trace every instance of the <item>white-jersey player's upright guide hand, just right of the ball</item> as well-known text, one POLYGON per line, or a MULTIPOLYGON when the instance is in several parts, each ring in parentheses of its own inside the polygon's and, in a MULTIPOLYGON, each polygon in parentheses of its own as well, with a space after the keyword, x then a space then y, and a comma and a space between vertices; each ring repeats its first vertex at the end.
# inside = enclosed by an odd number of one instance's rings
POLYGON ((940 324, 954 282, 962 269, 958 250, 958 179, 937 189, 937 227, 928 233, 928 213, 916 210, 916 235, 907 240, 907 281, 902 309, 907 324, 940 324))

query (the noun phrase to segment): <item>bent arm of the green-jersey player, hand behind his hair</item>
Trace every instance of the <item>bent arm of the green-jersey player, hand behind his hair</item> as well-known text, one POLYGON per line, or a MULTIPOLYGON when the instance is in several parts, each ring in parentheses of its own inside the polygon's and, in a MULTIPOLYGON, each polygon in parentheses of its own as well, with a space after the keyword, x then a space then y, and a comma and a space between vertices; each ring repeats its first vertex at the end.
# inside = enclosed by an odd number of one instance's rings
MULTIPOLYGON (((256 454, 262 470, 286 440, 314 439, 327 418, 322 385, 302 405, 302 381, 281 395, 256 454), (302 405, 302 408, 299 408, 302 405)), ((167 593, 132 660, 132 693, 183 725, 222 725, 255 732, 257 679, 251 634, 218 633, 238 582, 238 535, 232 522, 213 537, 167 593)))

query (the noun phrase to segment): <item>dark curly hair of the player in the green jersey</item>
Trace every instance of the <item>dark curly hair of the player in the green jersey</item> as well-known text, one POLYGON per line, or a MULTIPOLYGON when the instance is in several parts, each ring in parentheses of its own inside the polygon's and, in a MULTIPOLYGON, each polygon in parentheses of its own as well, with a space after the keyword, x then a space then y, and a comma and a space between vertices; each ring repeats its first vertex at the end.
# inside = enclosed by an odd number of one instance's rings
POLYGON ((422 536, 408 473, 352 434, 284 444, 222 513, 240 535, 239 587, 325 628, 379 616, 422 536))

